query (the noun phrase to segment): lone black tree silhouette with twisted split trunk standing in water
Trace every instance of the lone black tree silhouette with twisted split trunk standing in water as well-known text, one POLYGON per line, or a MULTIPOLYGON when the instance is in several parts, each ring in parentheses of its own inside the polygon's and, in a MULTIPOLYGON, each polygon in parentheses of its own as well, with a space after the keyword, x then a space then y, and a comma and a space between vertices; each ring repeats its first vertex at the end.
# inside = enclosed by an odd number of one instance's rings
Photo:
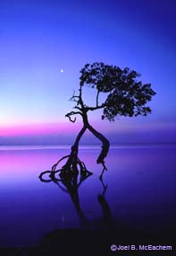
MULTIPOLYGON (((93 128, 88 122, 88 111, 103 110, 101 119, 114 121, 116 117, 137 117, 138 115, 147 116, 151 109, 147 106, 155 92, 151 89, 151 84, 142 84, 138 81, 140 76, 136 71, 129 67, 124 69, 119 66, 109 66, 104 63, 87 64, 80 70, 80 88, 79 93, 71 96, 71 101, 75 102, 74 110, 65 116, 71 122, 76 121, 76 115, 80 115, 83 121, 83 127, 71 146, 71 154, 65 156, 66 163, 62 171, 87 172, 85 165, 78 157, 80 138, 88 129, 95 137, 102 142, 102 150, 97 157, 96 163, 102 163, 103 172, 106 170, 105 157, 108 154, 110 143, 101 133, 93 128), (92 106, 87 106, 84 102, 82 91, 85 86, 96 90, 96 101, 92 106), (99 102, 100 93, 104 93, 106 98, 104 102, 99 102)), ((55 170, 56 165, 52 167, 55 170)), ((102 172, 102 174, 103 174, 102 172)))

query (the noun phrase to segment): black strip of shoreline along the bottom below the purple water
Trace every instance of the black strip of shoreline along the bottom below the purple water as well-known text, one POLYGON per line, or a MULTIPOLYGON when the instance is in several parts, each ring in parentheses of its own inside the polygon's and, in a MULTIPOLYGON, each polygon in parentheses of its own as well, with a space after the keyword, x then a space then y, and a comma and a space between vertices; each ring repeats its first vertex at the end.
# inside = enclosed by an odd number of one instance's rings
MULTIPOLYGON (((80 230, 57 229, 47 234, 43 242, 34 247, 0 248, 1 255, 9 256, 46 256, 46 255, 114 255, 119 251, 111 251, 111 245, 165 245, 172 246, 172 251, 162 251, 162 255, 172 255, 175 252, 176 232, 145 234, 143 231, 129 230, 80 230), (76 254, 75 254, 76 253, 76 254), (163 254, 164 253, 164 254, 163 254)), ((122 250, 123 255, 131 255, 131 250, 122 250)), ((140 252, 145 253, 144 252, 140 252)), ((157 251, 150 251, 151 255, 157 251)), ((146 255, 146 254, 145 254, 146 255)))

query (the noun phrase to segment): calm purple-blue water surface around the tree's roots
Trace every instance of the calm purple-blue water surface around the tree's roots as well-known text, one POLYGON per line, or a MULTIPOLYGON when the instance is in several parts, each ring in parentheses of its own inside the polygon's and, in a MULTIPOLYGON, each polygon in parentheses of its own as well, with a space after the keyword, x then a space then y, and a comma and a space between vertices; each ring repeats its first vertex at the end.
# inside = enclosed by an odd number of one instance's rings
POLYGON ((70 193, 38 179, 70 147, 1 147, 0 247, 38 245, 59 228, 108 225, 153 234, 175 229, 176 146, 112 146, 104 183, 96 164, 99 151, 80 147, 80 160, 93 175, 80 184, 78 210, 70 193))

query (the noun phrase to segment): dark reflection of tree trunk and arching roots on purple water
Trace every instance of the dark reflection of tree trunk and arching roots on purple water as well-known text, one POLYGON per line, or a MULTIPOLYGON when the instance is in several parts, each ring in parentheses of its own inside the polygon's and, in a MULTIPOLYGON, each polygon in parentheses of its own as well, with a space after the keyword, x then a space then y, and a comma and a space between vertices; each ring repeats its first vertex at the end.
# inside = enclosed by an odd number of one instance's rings
MULTIPOLYGON (((67 159, 67 157, 69 156, 64 156, 61 160, 55 163, 51 171, 40 173, 39 179, 43 182, 53 181, 61 190, 63 190, 63 192, 70 194, 71 201, 76 208, 83 228, 89 229, 90 225, 88 224, 88 220, 82 208, 80 207, 79 188, 82 182, 86 181, 92 175, 92 172, 89 172, 87 170, 85 163, 80 162, 80 159, 78 161, 80 167, 80 174, 78 174, 77 172, 62 172, 62 169, 56 170, 59 163, 61 163, 64 159, 67 159)), ((105 170, 103 169, 103 172, 104 171, 105 170)), ((97 201, 102 208, 104 216, 102 220, 102 227, 104 227, 105 229, 109 229, 111 228, 112 224, 112 214, 108 202, 105 199, 107 184, 105 184, 105 182, 103 181, 103 174, 100 175, 99 180, 103 187, 101 193, 97 195, 97 201)))

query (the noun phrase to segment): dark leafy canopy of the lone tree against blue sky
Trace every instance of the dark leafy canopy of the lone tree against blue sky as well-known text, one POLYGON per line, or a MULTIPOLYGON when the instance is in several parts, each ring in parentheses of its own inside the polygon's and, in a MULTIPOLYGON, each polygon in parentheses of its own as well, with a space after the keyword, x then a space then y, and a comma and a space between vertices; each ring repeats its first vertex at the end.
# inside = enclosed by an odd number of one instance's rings
POLYGON ((96 104, 93 107, 86 106, 80 94, 72 97, 77 102, 77 109, 79 105, 80 110, 103 109, 102 119, 110 121, 114 121, 118 116, 136 117, 151 113, 147 102, 151 101, 155 92, 151 84, 138 81, 140 75, 129 67, 122 69, 119 66, 95 62, 86 64, 80 74, 80 92, 86 85, 96 89, 96 104), (106 100, 101 105, 98 104, 99 93, 107 93, 106 100))

